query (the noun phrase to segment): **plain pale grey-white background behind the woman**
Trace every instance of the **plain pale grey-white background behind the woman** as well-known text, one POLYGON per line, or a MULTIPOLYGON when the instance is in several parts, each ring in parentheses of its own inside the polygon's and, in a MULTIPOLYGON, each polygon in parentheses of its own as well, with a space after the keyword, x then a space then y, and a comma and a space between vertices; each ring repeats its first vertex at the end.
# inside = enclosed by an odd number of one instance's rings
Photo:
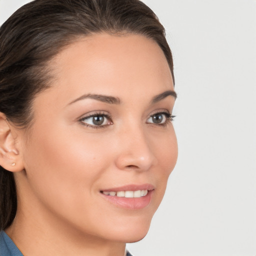
MULTIPOLYGON (((25 0, 0 0, 0 23, 25 0)), ((179 158, 137 256, 256 255, 256 0, 144 0, 166 28, 179 158)))

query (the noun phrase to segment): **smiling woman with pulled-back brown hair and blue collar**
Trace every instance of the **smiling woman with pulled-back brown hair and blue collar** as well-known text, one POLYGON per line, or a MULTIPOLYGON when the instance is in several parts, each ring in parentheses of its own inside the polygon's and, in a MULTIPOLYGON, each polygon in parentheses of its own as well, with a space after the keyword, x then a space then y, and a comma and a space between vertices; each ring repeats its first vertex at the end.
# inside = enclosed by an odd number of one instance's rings
POLYGON ((173 83, 138 0, 18 9, 0 28, 1 255, 123 256, 142 239, 177 158, 173 83))

